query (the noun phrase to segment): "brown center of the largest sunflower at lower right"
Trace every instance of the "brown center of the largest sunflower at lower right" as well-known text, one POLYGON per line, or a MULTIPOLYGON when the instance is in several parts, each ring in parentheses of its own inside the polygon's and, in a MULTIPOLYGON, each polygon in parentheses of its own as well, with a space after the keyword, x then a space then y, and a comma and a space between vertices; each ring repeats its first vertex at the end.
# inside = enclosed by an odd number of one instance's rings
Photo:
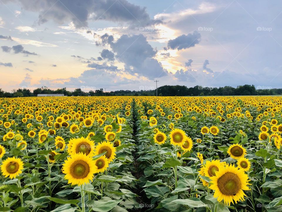
POLYGON ((232 172, 226 172, 217 180, 217 186, 222 194, 234 196, 241 189, 241 180, 238 175, 232 172))

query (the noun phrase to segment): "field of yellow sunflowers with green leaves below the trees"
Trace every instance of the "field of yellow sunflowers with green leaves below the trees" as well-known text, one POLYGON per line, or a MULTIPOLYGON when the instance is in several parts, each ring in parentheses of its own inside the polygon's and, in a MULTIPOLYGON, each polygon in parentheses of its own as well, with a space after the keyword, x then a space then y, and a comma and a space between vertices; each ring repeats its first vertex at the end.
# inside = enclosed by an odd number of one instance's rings
POLYGON ((0 98, 0 211, 282 211, 282 97, 0 98))

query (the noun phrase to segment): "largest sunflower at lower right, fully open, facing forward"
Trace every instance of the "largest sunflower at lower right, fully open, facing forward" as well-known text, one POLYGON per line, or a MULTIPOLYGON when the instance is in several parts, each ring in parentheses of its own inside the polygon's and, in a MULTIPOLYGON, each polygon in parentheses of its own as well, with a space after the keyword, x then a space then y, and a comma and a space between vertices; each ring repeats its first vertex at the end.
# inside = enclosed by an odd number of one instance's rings
POLYGON ((231 202, 234 203, 233 201, 235 203, 239 200, 244 201, 246 194, 243 190, 250 190, 247 186, 250 185, 248 175, 234 165, 226 165, 210 179, 212 185, 209 188, 214 190, 214 197, 219 202, 224 200, 229 206, 231 202))

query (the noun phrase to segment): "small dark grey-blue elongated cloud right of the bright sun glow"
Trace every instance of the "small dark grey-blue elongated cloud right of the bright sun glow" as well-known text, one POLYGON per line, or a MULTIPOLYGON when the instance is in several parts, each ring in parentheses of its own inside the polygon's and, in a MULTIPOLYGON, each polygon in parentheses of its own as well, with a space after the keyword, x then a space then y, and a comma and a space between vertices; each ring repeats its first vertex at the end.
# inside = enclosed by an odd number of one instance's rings
POLYGON ((183 34, 173 40, 169 40, 167 47, 169 49, 188 49, 194 47, 201 40, 201 34, 197 31, 194 31, 193 34, 189 33, 187 35, 183 34))

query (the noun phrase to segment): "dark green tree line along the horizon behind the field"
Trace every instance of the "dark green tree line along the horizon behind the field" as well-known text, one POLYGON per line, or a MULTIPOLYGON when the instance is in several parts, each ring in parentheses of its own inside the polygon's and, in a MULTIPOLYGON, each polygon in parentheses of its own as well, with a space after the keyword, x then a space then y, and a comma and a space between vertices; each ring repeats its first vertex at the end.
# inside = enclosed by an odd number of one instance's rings
MULTIPOLYGON (((27 88, 14 89, 12 92, 5 92, 0 88, 0 97, 33 97, 38 94, 64 94, 65 96, 155 96, 155 90, 118 90, 104 92, 103 88, 99 90, 90 90, 84 92, 81 88, 74 91, 68 91, 66 88, 51 90, 48 87, 37 88, 33 91, 27 88)), ((240 85, 236 88, 225 87, 186 87, 184 85, 164 85, 158 88, 158 96, 234 96, 234 95, 281 95, 282 88, 256 89, 254 85, 240 85)))

